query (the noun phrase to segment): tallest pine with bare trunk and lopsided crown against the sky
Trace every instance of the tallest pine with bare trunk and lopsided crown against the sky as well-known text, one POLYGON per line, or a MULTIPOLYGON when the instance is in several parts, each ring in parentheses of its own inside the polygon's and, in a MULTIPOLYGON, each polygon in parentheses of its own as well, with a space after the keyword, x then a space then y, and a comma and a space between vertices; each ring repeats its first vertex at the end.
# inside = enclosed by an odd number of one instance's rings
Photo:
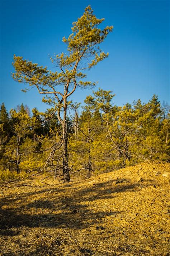
POLYGON ((112 31, 113 26, 107 26, 101 30, 98 26, 103 21, 104 19, 96 18, 90 6, 85 9, 84 14, 73 23, 71 35, 67 39, 63 37, 68 54, 61 53, 55 58, 51 58, 58 68, 58 72, 48 71, 46 67, 43 68, 14 55, 15 73, 13 78, 18 82, 26 82, 30 86, 35 86, 40 94, 46 95, 43 101, 53 105, 57 112, 62 126, 62 166, 65 180, 70 180, 67 148, 67 110, 71 103, 69 98, 77 87, 95 86, 93 82, 84 81, 86 74, 82 72, 91 69, 108 57, 108 53, 102 52, 98 45, 112 31), (62 115, 61 111, 63 111, 62 115))

